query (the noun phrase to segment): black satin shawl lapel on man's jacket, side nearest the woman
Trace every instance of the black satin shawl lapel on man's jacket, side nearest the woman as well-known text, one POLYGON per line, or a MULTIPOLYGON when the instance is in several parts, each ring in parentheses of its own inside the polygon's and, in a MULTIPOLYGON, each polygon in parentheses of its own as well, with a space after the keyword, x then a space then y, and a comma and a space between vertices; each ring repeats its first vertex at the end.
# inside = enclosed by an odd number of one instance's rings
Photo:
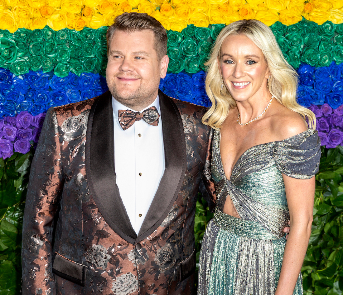
POLYGON ((186 140, 180 112, 173 100, 158 92, 166 169, 143 221, 136 242, 150 236, 167 217, 185 177, 186 140))

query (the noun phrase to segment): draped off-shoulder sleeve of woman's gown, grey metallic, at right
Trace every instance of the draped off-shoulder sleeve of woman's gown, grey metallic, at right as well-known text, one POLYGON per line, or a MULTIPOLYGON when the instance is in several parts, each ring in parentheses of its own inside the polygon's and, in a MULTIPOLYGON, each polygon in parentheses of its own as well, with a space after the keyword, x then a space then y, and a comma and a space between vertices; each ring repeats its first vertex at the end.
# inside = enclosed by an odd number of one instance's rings
POLYGON ((298 179, 309 179, 319 170, 320 138, 314 129, 275 142, 273 156, 277 169, 298 179))

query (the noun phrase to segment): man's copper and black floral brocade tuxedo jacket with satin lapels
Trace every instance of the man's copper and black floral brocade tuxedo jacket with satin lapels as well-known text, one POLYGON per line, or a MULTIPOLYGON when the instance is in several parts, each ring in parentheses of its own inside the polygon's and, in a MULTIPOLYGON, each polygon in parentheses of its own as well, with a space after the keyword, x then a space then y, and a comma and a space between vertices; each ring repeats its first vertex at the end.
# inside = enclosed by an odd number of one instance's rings
POLYGON ((138 235, 115 182, 110 93, 48 110, 24 212, 23 294, 195 292, 201 178, 215 200, 212 130, 202 107, 159 98, 166 170, 138 235))

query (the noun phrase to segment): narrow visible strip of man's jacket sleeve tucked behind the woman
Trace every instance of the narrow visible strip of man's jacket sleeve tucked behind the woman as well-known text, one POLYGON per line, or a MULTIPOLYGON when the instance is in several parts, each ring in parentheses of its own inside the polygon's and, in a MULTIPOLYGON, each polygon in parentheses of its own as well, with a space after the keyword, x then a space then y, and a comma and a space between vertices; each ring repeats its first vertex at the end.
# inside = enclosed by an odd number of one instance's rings
POLYGON ((205 161, 204 170, 201 176, 205 184, 206 190, 208 192, 208 194, 203 194, 203 195, 209 205, 209 209, 211 212, 214 211, 214 207, 216 204, 214 182, 213 182, 212 173, 211 173, 213 133, 214 133, 214 130, 211 128, 209 132, 209 142, 208 142, 207 151, 206 151, 206 161, 205 161))

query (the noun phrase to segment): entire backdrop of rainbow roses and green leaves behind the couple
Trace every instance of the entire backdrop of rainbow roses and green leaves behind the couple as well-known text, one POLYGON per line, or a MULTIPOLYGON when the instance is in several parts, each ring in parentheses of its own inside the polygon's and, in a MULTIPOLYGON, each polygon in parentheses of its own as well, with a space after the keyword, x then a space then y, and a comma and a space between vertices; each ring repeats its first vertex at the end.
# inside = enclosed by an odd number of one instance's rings
MULTIPOLYGON (((322 144, 304 293, 341 295, 343 0, 0 0, 0 294, 21 288, 22 215, 45 112, 107 90, 106 30, 125 11, 146 12, 167 30, 160 88, 204 106, 204 62, 221 29, 253 18, 270 26, 299 74, 298 102, 316 114, 322 144)), ((197 251, 211 217, 199 194, 197 251)))

